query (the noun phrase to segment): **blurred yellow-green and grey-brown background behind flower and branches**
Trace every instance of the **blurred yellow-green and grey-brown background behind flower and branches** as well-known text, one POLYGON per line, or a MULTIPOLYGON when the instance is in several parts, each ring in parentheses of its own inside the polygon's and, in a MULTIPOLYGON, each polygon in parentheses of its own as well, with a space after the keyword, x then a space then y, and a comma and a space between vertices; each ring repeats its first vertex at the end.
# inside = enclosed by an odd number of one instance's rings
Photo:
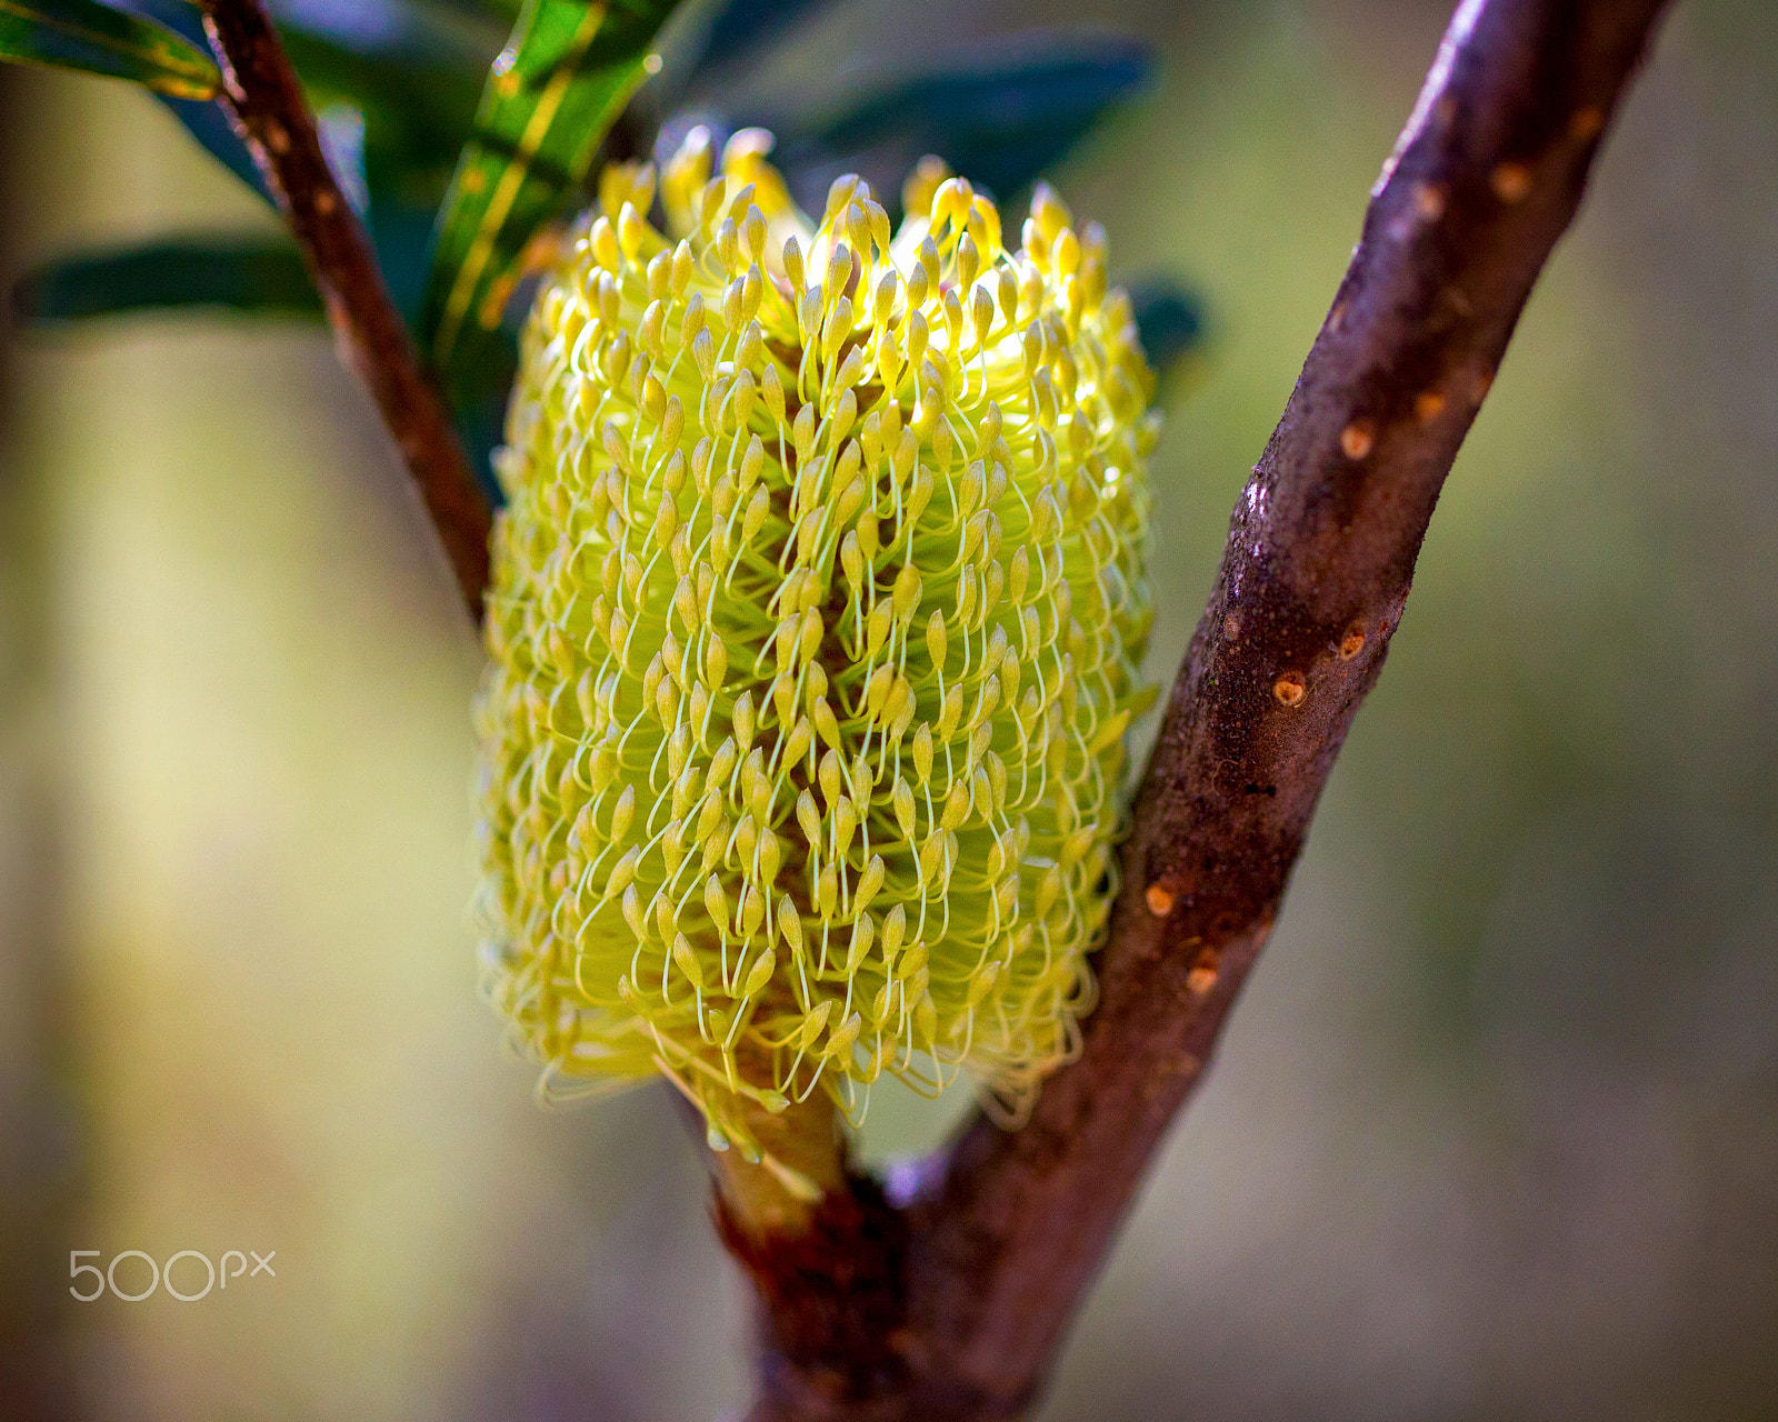
MULTIPOLYGON (((1211 318, 1168 677, 1447 5, 873 0, 747 82, 1056 18, 1159 48, 1056 180, 1211 318)), ((123 85, 0 103, 7 279, 270 220, 123 85)), ((740 1406, 669 1102, 539 1109, 477 1001, 478 654, 325 336, 12 332, 4 377, 0 1417, 740 1406), (277 1274, 78 1305, 71 1250, 277 1274)), ((1045 1422, 1778 1415, 1774 608, 1778 11, 1682 0, 1045 1422)), ((866 1150, 957 1109, 884 1091, 866 1150)))

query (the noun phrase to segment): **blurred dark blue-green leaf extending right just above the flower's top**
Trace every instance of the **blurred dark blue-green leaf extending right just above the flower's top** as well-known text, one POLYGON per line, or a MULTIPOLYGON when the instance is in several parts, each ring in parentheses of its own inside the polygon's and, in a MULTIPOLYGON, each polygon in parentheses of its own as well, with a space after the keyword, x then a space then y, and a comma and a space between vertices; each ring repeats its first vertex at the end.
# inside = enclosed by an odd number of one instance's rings
POLYGON ((1152 71, 1138 39, 1038 32, 974 46, 960 64, 909 75, 837 107, 761 123, 777 133, 775 160, 793 174, 818 169, 832 178, 841 167, 864 165, 855 158, 877 155, 873 185, 893 197, 882 174, 905 172, 937 153, 1010 199, 1152 71))

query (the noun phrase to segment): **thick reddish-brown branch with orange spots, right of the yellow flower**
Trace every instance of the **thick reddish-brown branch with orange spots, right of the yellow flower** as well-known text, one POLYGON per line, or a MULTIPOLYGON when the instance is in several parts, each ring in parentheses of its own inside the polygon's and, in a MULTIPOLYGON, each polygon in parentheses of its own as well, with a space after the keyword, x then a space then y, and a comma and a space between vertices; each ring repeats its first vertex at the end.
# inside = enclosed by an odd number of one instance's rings
POLYGON ((756 1422, 1015 1418, 1037 1399, 1271 931, 1440 485, 1661 7, 1460 7, 1236 507, 1138 793, 1085 1051, 1026 1129, 978 1118, 909 1198, 825 1200, 814 1257, 807 1237, 741 1253, 765 1301, 756 1422))

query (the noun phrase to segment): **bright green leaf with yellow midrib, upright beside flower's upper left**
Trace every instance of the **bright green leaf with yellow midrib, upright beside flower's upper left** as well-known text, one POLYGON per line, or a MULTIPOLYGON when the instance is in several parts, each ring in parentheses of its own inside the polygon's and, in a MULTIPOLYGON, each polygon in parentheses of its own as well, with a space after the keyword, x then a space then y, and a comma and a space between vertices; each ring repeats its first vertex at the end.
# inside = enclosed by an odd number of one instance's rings
POLYGON ((500 324, 525 244, 587 176, 676 0, 526 0, 439 213, 423 340, 446 382, 500 324))

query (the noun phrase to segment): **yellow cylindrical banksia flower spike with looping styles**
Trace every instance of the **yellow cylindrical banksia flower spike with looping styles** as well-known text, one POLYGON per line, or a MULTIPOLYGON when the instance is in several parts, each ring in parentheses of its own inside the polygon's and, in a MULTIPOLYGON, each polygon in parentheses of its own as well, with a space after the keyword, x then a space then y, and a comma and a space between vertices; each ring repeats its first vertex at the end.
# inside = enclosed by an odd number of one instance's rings
MULTIPOLYGON (((544 1090, 711 1143, 884 1072, 1010 1118, 1077 1042, 1136 665, 1152 375, 1104 235, 926 160, 818 226, 736 133, 613 165, 500 455, 489 985, 544 1090)), ((772 1166, 772 1159, 766 1159, 772 1166)), ((784 1170, 786 1175, 795 1171, 784 1170)), ((797 1184, 797 1180, 791 1180, 797 1184)))

